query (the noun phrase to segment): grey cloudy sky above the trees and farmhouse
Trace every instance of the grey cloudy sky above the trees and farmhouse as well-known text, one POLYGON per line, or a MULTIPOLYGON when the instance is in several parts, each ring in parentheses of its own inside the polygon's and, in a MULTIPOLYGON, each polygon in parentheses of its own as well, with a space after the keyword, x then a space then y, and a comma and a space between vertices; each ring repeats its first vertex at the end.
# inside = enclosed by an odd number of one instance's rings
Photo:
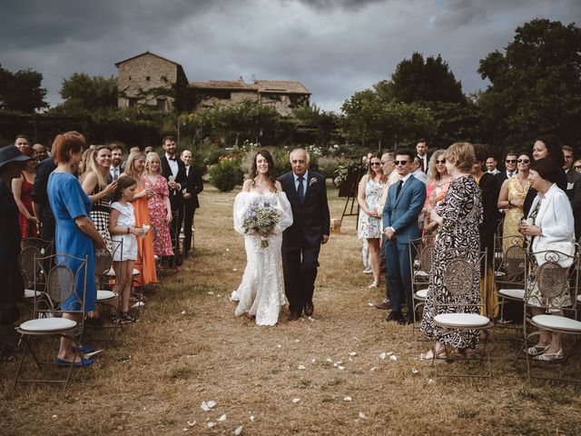
POLYGON ((75 72, 116 75, 149 50, 188 79, 297 80, 325 110, 389 78, 413 52, 441 54, 465 93, 478 61, 518 25, 581 22, 579 0, 2 0, 0 64, 44 74, 49 102, 75 72))

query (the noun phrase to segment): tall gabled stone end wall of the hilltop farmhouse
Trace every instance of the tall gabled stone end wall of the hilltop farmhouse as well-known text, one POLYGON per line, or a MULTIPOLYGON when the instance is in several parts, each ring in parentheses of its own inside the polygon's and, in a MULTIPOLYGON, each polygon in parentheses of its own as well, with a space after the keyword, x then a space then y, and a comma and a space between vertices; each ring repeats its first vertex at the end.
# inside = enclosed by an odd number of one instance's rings
MULTIPOLYGON (((152 88, 171 86, 178 80, 178 66, 168 62, 153 54, 143 54, 119 64, 119 91, 125 93, 129 98, 135 98, 140 88, 147 91, 152 88)), ((131 102, 129 98, 119 98, 119 107, 128 107, 131 102)), ((162 111, 168 111, 173 104, 173 98, 155 98, 151 96, 146 103, 157 105, 162 111)))

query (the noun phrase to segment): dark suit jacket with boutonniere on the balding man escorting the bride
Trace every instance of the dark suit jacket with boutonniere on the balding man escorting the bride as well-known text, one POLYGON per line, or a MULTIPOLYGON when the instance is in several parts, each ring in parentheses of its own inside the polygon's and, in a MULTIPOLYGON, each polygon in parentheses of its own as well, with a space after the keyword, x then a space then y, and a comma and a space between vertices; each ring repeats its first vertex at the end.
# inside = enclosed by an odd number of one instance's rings
POLYGON ((279 182, 282 191, 287 194, 292 209, 292 225, 282 233, 282 245, 291 248, 305 244, 320 245, 323 234, 330 234, 325 177, 320 173, 309 171, 302 204, 297 195, 292 172, 281 175, 279 182))

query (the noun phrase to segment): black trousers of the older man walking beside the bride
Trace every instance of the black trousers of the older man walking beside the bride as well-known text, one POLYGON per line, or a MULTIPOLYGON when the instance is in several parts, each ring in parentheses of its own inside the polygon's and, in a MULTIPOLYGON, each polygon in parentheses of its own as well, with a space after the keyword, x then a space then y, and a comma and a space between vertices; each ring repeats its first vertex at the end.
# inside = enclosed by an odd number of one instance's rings
POLYGON ((307 302, 312 302, 319 267, 320 245, 282 247, 284 291, 291 313, 300 314, 307 302))

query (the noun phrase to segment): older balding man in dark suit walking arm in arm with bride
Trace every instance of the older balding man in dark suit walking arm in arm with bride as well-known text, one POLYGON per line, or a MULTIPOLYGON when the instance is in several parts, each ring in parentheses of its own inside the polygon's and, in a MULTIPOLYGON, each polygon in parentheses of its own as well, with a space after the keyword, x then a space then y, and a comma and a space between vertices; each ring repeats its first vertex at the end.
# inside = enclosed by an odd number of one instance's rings
POLYGON ((292 209, 292 225, 282 233, 282 269, 289 321, 294 321, 303 310, 312 315, 320 244, 329 241, 330 213, 325 177, 309 171, 309 154, 293 150, 291 167, 292 172, 281 175, 279 182, 292 209))

